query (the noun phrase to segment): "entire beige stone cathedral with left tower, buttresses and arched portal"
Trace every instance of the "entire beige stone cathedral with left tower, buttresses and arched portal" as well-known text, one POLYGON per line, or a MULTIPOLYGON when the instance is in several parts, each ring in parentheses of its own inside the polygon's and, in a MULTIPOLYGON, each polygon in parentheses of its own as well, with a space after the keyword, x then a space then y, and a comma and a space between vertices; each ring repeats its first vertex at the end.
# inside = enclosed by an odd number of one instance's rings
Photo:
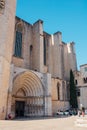
POLYGON ((69 72, 74 42, 15 17, 16 0, 0 0, 0 119, 52 116, 69 108, 69 72))

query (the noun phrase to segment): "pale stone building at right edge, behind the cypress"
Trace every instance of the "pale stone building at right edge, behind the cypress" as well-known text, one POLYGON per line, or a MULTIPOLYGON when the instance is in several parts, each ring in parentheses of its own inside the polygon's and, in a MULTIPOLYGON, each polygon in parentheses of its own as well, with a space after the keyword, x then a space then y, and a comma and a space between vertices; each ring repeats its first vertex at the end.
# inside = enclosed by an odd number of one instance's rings
POLYGON ((78 106, 87 109, 87 64, 80 66, 80 71, 74 73, 77 86, 78 106))

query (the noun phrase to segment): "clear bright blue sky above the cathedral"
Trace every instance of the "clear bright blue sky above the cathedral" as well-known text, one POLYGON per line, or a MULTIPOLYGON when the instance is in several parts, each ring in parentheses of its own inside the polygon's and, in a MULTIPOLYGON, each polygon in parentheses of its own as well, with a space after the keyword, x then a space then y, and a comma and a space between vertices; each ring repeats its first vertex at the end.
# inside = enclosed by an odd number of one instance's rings
POLYGON ((78 68, 87 64, 87 0, 17 0, 16 16, 33 24, 44 21, 44 31, 62 32, 62 41, 75 42, 78 68))

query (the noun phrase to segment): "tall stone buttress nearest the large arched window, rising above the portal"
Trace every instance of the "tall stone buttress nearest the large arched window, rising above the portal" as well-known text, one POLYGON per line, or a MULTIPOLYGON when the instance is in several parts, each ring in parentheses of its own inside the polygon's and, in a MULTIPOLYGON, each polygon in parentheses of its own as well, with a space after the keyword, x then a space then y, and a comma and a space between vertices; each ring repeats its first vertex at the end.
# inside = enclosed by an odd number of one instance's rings
POLYGON ((33 25, 33 70, 43 73, 43 21, 38 20, 33 25))

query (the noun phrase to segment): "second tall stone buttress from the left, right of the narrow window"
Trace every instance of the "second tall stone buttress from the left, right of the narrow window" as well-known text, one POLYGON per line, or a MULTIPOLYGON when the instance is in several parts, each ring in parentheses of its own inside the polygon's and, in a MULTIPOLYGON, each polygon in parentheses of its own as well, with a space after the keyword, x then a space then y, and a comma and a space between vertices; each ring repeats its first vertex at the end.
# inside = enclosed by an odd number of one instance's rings
POLYGON ((52 40, 52 54, 53 54, 53 77, 62 78, 62 34, 57 32, 53 35, 52 40))

